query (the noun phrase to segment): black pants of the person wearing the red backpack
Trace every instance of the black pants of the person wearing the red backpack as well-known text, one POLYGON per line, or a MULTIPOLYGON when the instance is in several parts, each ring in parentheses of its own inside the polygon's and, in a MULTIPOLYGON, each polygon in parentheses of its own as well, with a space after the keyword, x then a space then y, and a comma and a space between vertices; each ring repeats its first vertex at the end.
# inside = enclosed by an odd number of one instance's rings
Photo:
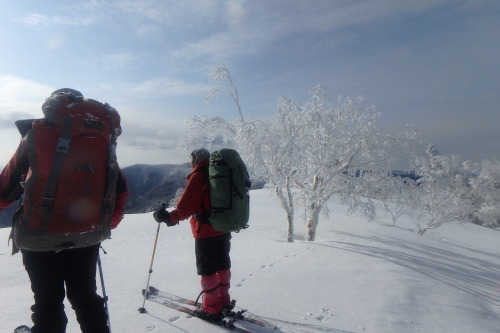
POLYGON ((96 293, 99 245, 61 252, 22 250, 22 254, 35 298, 31 332, 66 332, 66 291, 83 333, 109 333, 104 300, 96 293))

